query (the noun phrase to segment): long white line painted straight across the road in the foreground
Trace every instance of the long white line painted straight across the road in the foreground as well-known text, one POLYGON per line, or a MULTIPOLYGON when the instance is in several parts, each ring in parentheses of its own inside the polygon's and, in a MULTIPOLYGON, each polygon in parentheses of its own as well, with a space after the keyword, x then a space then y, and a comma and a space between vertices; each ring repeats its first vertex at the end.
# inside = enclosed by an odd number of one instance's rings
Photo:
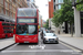
POLYGON ((29 51, 2 51, 1 53, 14 53, 14 52, 62 52, 62 53, 73 53, 72 50, 29 50, 29 51))

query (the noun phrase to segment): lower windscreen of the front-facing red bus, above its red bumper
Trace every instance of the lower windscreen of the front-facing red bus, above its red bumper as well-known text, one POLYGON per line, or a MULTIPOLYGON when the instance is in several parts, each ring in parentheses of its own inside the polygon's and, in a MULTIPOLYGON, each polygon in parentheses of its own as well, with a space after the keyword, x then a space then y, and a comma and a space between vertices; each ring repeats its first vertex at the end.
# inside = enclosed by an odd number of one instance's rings
POLYGON ((37 25, 17 25, 17 34, 19 35, 34 35, 37 34, 37 25))

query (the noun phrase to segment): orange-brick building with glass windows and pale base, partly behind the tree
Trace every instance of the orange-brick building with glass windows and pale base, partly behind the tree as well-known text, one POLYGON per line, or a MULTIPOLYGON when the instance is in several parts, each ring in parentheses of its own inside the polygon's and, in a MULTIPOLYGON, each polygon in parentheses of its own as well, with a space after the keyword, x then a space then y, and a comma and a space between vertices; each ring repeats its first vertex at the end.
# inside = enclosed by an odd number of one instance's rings
POLYGON ((53 25, 52 21, 51 21, 53 19, 53 12, 55 12, 55 10, 61 9, 61 4, 62 3, 63 3, 63 0, 50 0, 49 1, 49 28, 51 28, 51 30, 55 31, 55 33, 58 33, 59 30, 61 32, 63 32, 61 26, 60 28, 55 28, 53 25))

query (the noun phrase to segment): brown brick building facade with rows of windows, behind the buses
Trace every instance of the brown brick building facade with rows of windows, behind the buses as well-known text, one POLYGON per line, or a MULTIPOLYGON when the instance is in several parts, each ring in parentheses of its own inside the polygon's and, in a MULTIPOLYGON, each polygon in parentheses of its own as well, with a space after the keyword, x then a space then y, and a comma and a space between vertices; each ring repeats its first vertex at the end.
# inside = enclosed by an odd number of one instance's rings
POLYGON ((28 8, 25 0, 0 0, 0 21, 14 22, 18 8, 28 8))

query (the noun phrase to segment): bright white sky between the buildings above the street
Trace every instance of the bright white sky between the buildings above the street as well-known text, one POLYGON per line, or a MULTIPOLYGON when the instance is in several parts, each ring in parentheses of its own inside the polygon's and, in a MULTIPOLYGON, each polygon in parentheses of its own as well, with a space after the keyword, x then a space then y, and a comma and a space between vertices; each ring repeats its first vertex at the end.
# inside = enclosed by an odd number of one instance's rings
POLYGON ((49 6, 48 0, 35 0, 35 6, 39 7, 42 19, 46 21, 49 19, 49 6))

